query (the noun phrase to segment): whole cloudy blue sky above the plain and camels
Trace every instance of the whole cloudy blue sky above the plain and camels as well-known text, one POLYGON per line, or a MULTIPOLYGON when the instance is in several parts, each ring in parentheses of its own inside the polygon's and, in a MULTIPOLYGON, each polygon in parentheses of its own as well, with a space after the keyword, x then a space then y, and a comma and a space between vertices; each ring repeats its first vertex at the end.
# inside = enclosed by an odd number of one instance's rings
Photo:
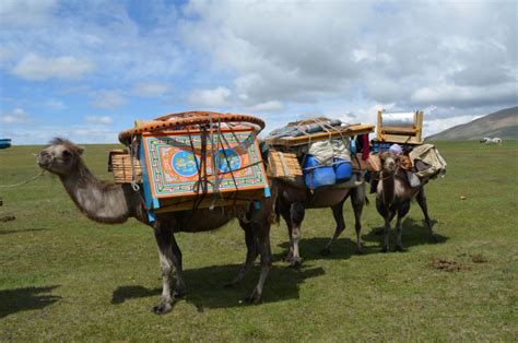
POLYGON ((518 104, 518 1, 0 0, 0 138, 115 143, 187 110, 424 135, 518 104))

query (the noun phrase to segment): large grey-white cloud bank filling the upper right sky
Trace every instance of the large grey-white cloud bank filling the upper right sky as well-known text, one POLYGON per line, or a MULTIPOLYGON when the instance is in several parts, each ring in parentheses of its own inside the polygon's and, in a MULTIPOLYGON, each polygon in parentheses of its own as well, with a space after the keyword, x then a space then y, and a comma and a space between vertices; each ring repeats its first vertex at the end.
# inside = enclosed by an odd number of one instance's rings
POLYGON ((446 94, 425 90, 451 84, 470 107, 508 102, 517 86, 515 12, 511 2, 191 1, 197 20, 180 32, 212 70, 235 74, 234 105, 442 106, 446 94), (481 85, 483 97, 457 88, 481 85))

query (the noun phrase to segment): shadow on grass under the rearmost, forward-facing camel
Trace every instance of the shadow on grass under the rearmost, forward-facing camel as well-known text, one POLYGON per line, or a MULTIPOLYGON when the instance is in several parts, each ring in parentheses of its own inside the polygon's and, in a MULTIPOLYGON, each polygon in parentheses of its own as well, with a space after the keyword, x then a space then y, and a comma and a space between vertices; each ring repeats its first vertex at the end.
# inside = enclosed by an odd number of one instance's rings
MULTIPOLYGON (((432 227, 434 227, 436 223, 436 220, 432 220, 432 227)), ((389 232, 389 240, 392 246, 396 243, 396 228, 393 227, 395 225, 396 220, 392 222, 392 228, 389 232)), ((378 226, 374 227, 368 234, 362 235, 362 240, 377 241, 379 243, 379 246, 381 246, 382 236, 384 227, 378 226)), ((416 221, 412 217, 407 217, 403 220, 403 247, 409 248, 420 245, 444 244, 449 239, 449 237, 439 235, 436 232, 434 232, 434 236, 436 238, 436 241, 432 243, 428 238, 428 228, 426 227, 424 221, 416 221)))

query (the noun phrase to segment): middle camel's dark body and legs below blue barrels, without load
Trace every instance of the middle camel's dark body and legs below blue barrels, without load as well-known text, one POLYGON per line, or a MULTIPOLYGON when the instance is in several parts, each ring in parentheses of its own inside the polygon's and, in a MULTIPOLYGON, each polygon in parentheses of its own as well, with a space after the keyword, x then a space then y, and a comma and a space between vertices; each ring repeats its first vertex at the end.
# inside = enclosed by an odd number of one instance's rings
POLYGON ((310 192, 303 184, 286 182, 276 180, 275 188, 278 198, 275 202, 275 212, 280 214, 287 226, 290 237, 290 251, 284 258, 292 267, 299 267, 302 258, 299 255, 298 243, 301 240, 302 222, 306 209, 331 208, 337 227, 331 240, 321 251, 322 255, 331 253, 334 241, 345 228, 343 218, 343 203, 351 198, 351 204, 354 210, 355 229, 356 229, 356 252, 362 252, 362 243, 360 234, 362 232, 362 211, 366 201, 365 180, 362 174, 357 174, 358 180, 344 184, 339 187, 317 189, 310 192), (301 185, 301 186, 298 186, 301 185))

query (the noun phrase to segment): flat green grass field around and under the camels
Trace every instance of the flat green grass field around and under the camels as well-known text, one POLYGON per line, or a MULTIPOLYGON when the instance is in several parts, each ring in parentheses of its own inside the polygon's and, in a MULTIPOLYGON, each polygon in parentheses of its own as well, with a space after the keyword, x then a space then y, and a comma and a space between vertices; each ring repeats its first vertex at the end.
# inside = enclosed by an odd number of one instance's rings
MULTIPOLYGON (((370 194, 365 253, 353 253, 348 203, 348 228, 333 255, 321 257, 333 220, 330 210, 310 210, 303 267, 281 261, 286 228, 273 226, 274 264, 263 304, 249 306, 239 300, 255 285, 257 267, 243 286, 223 287, 245 257, 237 223, 179 234, 188 294, 165 316, 150 311, 161 275, 148 226, 86 220, 50 175, 0 188, 0 217, 15 216, 0 223, 0 341, 517 341, 518 141, 437 146, 448 173, 427 185, 427 194, 439 243, 427 243, 414 203, 403 225, 408 251, 380 253, 382 220, 370 194), (438 259, 452 271, 439 269, 438 259)), ((89 145, 84 155, 102 179, 111 178, 109 147, 89 145)), ((33 153, 39 149, 0 151, 0 184, 36 175, 33 153)))

